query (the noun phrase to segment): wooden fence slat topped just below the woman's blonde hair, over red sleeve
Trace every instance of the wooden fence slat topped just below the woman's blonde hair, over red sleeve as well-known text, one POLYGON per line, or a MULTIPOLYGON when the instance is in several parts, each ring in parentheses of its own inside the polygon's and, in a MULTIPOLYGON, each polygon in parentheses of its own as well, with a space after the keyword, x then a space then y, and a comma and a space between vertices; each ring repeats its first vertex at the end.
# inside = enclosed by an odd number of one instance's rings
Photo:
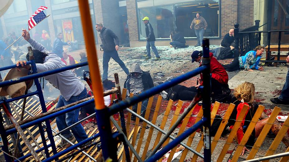
POLYGON ((241 122, 244 119, 245 114, 248 111, 248 109, 249 109, 249 106, 247 106, 247 105, 243 106, 243 108, 242 108, 242 110, 238 116, 238 119, 236 120, 234 127, 231 130, 231 133, 229 134, 229 137, 227 138, 227 141, 226 141, 226 143, 225 143, 225 145, 221 151, 221 154, 219 155, 217 162, 221 162, 224 159, 226 152, 228 151, 228 148, 230 147, 231 142, 233 141, 235 134, 236 134, 237 130, 239 129, 241 122))

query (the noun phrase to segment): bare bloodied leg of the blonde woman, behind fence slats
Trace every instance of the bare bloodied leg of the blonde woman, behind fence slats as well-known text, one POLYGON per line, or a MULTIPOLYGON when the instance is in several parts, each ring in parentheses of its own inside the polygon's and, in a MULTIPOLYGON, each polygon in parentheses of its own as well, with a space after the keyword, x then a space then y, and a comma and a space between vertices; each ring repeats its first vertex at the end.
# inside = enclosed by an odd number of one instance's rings
MULTIPOLYGON (((264 113, 265 114, 265 113, 264 113)), ((261 117, 263 116, 263 114, 261 115, 261 117)), ((262 119, 259 120, 258 123, 255 125, 255 137, 259 137, 262 129, 264 128, 265 124, 267 123, 269 118, 266 119, 262 119)), ((275 119, 274 124, 271 127, 271 131, 277 135, 277 133, 279 132, 279 130, 281 129, 281 124, 277 121, 277 119, 275 119)), ((286 145, 286 147, 289 146, 289 137, 286 133, 286 135, 283 137, 282 142, 286 145)))

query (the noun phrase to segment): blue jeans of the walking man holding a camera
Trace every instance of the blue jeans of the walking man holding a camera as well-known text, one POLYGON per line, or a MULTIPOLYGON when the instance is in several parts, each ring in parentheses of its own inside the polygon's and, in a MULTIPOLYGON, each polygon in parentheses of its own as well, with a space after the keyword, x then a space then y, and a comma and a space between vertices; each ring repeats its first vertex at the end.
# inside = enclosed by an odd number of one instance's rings
POLYGON ((110 52, 103 52, 103 56, 102 56, 102 69, 103 69, 102 80, 107 79, 108 62, 109 62, 110 58, 112 58, 114 61, 116 61, 118 63, 118 65, 121 66, 122 70, 125 71, 126 75, 130 74, 129 70, 126 68, 125 63, 123 63, 123 61, 121 61, 121 59, 119 58, 116 50, 110 51, 110 52))

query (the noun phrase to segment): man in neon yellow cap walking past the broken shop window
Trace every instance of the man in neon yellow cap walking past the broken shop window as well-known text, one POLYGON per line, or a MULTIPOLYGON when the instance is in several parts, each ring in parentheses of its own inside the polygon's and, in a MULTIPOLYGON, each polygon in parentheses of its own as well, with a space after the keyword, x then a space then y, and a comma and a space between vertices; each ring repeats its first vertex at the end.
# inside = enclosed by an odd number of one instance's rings
POLYGON ((154 41, 155 41, 154 29, 153 29, 152 25, 150 25, 150 23, 149 23, 149 17, 145 16, 142 20, 145 23, 145 34, 146 34, 146 41, 147 41, 146 42, 146 51, 148 52, 145 60, 149 60, 151 58, 150 47, 152 47, 152 50, 154 51, 154 54, 156 57, 155 61, 158 61, 160 59, 160 57, 159 57, 159 52, 154 45, 154 41))

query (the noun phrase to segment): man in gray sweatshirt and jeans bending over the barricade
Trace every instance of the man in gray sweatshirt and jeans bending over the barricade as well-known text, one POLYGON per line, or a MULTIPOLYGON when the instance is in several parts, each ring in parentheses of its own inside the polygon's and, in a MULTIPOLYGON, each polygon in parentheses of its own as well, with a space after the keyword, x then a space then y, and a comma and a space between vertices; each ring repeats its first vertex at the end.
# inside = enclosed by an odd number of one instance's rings
MULTIPOLYGON (((36 68, 38 72, 49 71, 66 66, 64 62, 61 61, 59 56, 48 52, 42 44, 31 39, 30 34, 26 30, 22 31, 22 36, 28 43, 31 44, 33 48, 35 48, 35 50, 32 51, 35 57, 36 68)), ((29 61, 29 54, 26 55, 26 59, 29 61)), ((31 66, 26 65, 26 61, 17 61, 17 66, 19 66, 19 63, 22 67, 31 70, 31 66)), ((48 80, 50 84, 60 90, 61 95, 55 109, 82 100, 87 96, 84 84, 80 82, 80 80, 75 76, 75 74, 73 74, 71 70, 48 75, 45 76, 44 79, 48 80)), ((79 110, 80 108, 56 117, 58 130, 61 131, 78 122, 79 110)), ((75 142, 75 139, 77 142, 81 142, 88 138, 81 124, 77 124, 76 126, 70 128, 70 130, 68 129, 62 132, 61 135, 73 143, 75 142), (74 136, 71 134, 70 130, 74 136)), ((62 139, 58 147, 65 147, 67 145, 68 142, 62 139)))

